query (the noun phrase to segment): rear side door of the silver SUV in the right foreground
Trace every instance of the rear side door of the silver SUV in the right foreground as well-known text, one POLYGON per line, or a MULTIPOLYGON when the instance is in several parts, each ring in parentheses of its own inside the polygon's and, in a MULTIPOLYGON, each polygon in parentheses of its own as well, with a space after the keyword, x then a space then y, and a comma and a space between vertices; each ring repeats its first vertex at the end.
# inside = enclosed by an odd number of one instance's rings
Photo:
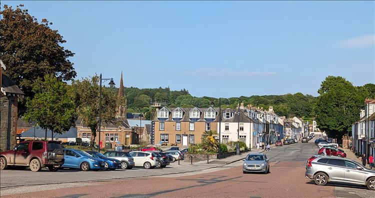
POLYGON ((328 159, 327 165, 324 165, 323 171, 327 172, 330 180, 343 181, 344 176, 344 160, 343 159, 328 159))

